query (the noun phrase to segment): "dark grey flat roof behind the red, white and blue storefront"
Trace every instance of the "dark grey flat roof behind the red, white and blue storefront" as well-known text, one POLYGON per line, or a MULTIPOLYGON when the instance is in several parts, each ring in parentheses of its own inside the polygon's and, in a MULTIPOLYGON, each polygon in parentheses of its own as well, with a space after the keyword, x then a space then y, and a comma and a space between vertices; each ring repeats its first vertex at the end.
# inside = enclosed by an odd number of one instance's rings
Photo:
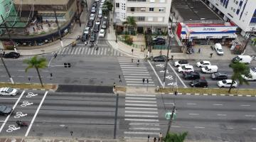
POLYGON ((183 21, 222 21, 199 0, 173 0, 173 9, 178 11, 183 21))

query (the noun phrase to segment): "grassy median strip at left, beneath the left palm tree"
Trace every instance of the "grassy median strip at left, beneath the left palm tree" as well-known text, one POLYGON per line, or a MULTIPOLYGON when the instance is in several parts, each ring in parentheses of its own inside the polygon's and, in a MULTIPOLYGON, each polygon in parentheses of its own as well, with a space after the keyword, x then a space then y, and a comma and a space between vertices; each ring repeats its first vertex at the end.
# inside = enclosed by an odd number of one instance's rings
POLYGON ((19 89, 57 89, 58 86, 56 84, 43 84, 43 87, 41 87, 41 84, 0 83, 0 87, 12 87, 12 88, 19 88, 19 89))

